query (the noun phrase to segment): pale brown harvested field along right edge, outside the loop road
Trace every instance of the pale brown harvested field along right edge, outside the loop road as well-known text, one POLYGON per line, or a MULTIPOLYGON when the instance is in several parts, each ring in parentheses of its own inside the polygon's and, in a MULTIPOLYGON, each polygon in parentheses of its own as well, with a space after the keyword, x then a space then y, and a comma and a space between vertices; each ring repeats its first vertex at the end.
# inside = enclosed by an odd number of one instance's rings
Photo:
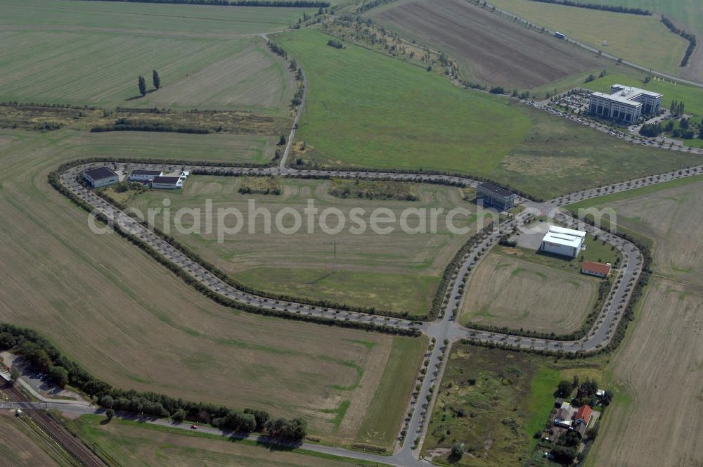
POLYGON ((656 241, 654 276, 608 371, 619 387, 590 466, 703 465, 703 183, 608 204, 656 241))

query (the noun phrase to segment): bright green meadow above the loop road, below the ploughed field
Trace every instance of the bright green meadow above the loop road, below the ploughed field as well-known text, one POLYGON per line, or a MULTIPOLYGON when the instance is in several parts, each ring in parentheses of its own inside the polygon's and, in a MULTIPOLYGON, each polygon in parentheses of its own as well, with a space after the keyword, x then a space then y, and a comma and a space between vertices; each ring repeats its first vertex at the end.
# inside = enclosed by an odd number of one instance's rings
POLYGON ((329 47, 328 36, 313 30, 276 40, 308 76, 297 135, 306 150, 297 157, 313 165, 460 172, 550 198, 698 160, 459 89, 446 77, 354 44, 329 47))

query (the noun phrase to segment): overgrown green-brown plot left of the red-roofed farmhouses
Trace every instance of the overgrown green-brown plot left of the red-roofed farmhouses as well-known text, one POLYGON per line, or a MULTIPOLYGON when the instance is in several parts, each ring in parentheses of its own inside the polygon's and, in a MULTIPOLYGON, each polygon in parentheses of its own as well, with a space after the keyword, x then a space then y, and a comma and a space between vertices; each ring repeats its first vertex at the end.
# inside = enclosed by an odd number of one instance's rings
POLYGON ((447 464, 449 447, 463 442, 457 466, 523 465, 543 430, 560 380, 602 381, 598 359, 555 361, 526 352, 456 343, 449 353, 423 454, 447 464))

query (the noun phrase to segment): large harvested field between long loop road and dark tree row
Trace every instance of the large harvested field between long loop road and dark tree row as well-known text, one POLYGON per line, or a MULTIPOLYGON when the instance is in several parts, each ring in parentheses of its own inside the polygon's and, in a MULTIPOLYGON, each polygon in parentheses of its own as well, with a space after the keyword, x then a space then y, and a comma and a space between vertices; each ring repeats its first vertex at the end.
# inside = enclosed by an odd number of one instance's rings
MULTIPOLYGON (((0 226, 1 321, 45 333, 121 388, 303 416, 311 433, 337 442, 367 436, 361 426, 379 417, 368 413, 368 403, 380 397, 383 416, 399 426, 415 372, 391 355, 401 352, 419 366, 424 339, 264 318, 214 304, 116 234, 91 233, 86 213, 47 184, 49 172, 76 157, 77 142, 67 144, 72 138, 62 134, 0 132, 6 167, 0 174, 6 220, 0 226), (377 392, 385 378, 399 385, 399 392, 387 393, 393 399, 377 392)), ((173 157, 159 142, 146 147, 145 141, 143 151, 173 157)), ((101 155, 110 156, 114 146, 103 147, 101 155)), ((203 157, 195 150, 177 155, 203 157)), ((384 439, 394 435, 384 433, 384 439)))

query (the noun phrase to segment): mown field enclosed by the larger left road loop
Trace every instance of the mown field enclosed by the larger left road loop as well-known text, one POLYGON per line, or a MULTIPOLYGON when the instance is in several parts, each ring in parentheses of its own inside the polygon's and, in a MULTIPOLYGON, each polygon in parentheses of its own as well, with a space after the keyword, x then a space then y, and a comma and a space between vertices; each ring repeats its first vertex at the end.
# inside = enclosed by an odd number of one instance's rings
MULTIPOLYGON (((197 221, 193 216, 184 218, 186 228, 200 224, 205 226, 205 203, 212 202, 213 212, 218 209, 236 208, 243 212, 243 226, 239 233, 228 233, 219 241, 217 229, 206 233, 200 229, 196 233, 177 233, 177 240, 192 248, 198 255, 216 267, 230 274, 233 279, 247 286, 266 290, 270 293, 283 293, 308 300, 328 300, 378 310, 408 312, 413 315, 427 314, 434 293, 439 286, 442 271, 456 251, 465 243, 470 233, 453 234, 446 226, 449 210, 461 205, 458 188, 436 185, 418 185, 418 201, 369 200, 358 198, 337 198, 330 195, 332 181, 280 179, 280 196, 239 193, 243 179, 236 177, 191 177, 182 193, 149 191, 136 196, 130 206, 146 213, 148 209, 163 206, 170 200, 169 224, 175 225, 176 211, 182 207, 200 209, 197 221), (264 207, 271 212, 271 221, 263 215, 252 219, 248 215, 249 203, 264 207), (320 212, 326 208, 341 210, 346 226, 334 236, 323 231, 315 220, 314 231, 310 232, 307 215, 303 210, 309 200, 320 212), (352 208, 361 208, 361 215, 367 225, 370 212, 385 207, 392 210, 396 219, 411 208, 422 210, 427 231, 408 235, 400 224, 394 231, 379 234, 367 228, 363 233, 350 230, 353 224, 349 215, 352 208), (295 233, 271 229, 264 236, 264 226, 273 226, 276 215, 284 208, 294 208, 302 215, 302 228, 295 233), (437 233, 430 231, 429 212, 441 208, 444 212, 437 217, 437 233), (249 223, 254 222, 253 230, 249 223), (333 256, 337 242, 337 259, 333 256), (336 270, 335 270, 336 267, 336 270)), ((476 212, 476 207, 463 203, 467 209, 476 212)), ((165 220, 158 215, 157 225, 165 220)), ((226 225, 234 226, 234 219, 226 225)), ((471 226, 475 232, 476 214, 459 215, 454 220, 457 227, 471 226)), ((408 217, 408 226, 419 226, 418 215, 408 217)), ((486 222, 488 220, 486 219, 486 222)), ((292 217, 285 219, 285 226, 292 226, 292 217)), ((337 225, 335 215, 326 224, 337 225)))

